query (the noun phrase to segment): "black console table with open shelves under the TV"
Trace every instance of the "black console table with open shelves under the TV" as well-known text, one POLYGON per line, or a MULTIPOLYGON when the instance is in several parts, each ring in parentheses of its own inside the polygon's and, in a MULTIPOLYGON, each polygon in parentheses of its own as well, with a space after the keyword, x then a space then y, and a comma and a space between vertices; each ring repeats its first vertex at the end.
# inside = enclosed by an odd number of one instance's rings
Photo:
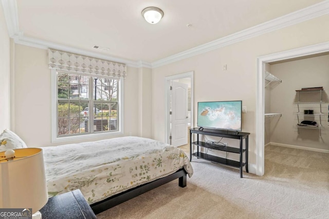
POLYGON ((212 161, 215 163, 221 163, 226 166, 240 168, 240 177, 242 178, 243 177, 242 169, 244 166, 246 168, 246 172, 248 173, 248 139, 249 139, 249 135, 250 135, 250 133, 246 133, 246 132, 234 132, 234 131, 215 130, 215 129, 202 129, 201 130, 198 127, 194 127, 192 129, 190 129, 190 161, 192 161, 192 156, 195 156, 197 158, 202 158, 202 159, 209 160, 209 161, 212 161), (192 142, 193 133, 197 134, 196 141, 194 141, 194 142, 192 142), (210 136, 217 136, 217 137, 224 137, 224 138, 239 139, 240 147, 233 148, 233 147, 227 147, 227 146, 207 143, 204 141, 199 141, 199 135, 210 135, 210 136), (243 148, 243 139, 245 139, 245 149, 243 148), (197 146, 197 152, 193 153, 192 145, 197 146), (199 152, 199 147, 240 154, 240 161, 235 161, 235 160, 231 160, 231 159, 227 159, 227 158, 223 158, 223 157, 217 157, 214 155, 199 152), (243 162, 243 153, 245 154, 245 162, 243 162))

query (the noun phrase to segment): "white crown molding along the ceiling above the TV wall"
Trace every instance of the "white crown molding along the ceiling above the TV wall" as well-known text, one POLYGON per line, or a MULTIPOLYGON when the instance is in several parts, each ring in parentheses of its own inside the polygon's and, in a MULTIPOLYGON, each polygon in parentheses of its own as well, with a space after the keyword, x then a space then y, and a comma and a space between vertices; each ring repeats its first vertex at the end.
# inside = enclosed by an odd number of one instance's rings
POLYGON ((309 6, 307 8, 278 17, 263 24, 233 33, 218 40, 214 40, 209 43, 188 49, 186 51, 179 52, 165 59, 160 59, 158 61, 152 62, 152 68, 160 67, 162 65, 167 65, 169 63, 193 57, 197 54, 201 54, 233 43, 244 41, 246 39, 253 38, 254 36, 288 27, 290 25, 298 24, 303 21, 311 20, 315 17, 322 16, 328 13, 329 1, 326 0, 318 4, 309 6))

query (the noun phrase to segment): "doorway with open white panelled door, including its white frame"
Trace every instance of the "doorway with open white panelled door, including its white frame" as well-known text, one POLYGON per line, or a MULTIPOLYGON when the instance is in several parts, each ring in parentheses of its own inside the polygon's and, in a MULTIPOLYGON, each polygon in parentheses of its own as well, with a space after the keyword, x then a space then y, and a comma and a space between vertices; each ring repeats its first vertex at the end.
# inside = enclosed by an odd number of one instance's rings
POLYGON ((166 143, 172 144, 174 147, 179 147, 181 145, 187 144, 189 141, 189 127, 193 125, 193 84, 193 71, 166 77, 165 139, 166 143), (173 83, 174 85, 176 85, 175 87, 177 88, 176 90, 174 90, 174 92, 172 90, 173 88, 171 89, 171 87, 173 87, 173 83), (180 86, 180 84, 182 86, 180 86), (182 94, 184 93, 185 87, 187 87, 188 89, 188 98, 186 102, 187 111, 182 112, 179 104, 184 103, 185 100, 180 100, 179 98, 183 98, 185 96, 182 94), (173 118, 173 115, 176 116, 173 118), (178 119, 175 119, 177 118, 177 116, 178 119))

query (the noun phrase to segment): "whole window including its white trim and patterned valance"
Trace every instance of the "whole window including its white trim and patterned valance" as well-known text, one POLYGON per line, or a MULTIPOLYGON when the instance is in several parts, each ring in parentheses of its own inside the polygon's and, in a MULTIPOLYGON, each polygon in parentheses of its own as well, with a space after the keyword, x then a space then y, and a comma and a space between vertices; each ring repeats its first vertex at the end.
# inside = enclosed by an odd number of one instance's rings
POLYGON ((125 64, 49 48, 48 66, 51 142, 123 134, 125 64))

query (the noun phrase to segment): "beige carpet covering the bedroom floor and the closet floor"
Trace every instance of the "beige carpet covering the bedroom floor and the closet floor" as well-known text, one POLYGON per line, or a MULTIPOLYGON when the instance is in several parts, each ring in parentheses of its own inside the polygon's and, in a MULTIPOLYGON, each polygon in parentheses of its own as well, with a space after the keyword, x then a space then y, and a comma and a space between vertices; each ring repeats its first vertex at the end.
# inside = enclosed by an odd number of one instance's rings
POLYGON ((262 177, 195 157, 192 166, 187 187, 176 179, 97 217, 329 218, 329 154, 268 145, 262 177))

